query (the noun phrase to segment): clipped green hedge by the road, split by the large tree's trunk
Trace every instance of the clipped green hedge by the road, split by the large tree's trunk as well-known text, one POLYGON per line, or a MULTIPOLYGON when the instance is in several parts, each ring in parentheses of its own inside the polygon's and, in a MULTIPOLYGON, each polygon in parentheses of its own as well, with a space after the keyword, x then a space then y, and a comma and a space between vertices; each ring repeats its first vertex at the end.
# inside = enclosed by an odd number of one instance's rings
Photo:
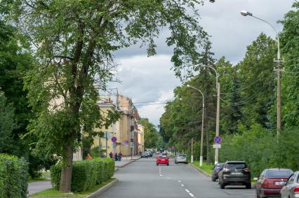
MULTIPOLYGON (((51 167, 51 184, 59 190, 62 164, 51 167)), ((88 190, 92 185, 106 181, 114 174, 114 160, 95 158, 76 161, 72 169, 72 192, 88 190)))

